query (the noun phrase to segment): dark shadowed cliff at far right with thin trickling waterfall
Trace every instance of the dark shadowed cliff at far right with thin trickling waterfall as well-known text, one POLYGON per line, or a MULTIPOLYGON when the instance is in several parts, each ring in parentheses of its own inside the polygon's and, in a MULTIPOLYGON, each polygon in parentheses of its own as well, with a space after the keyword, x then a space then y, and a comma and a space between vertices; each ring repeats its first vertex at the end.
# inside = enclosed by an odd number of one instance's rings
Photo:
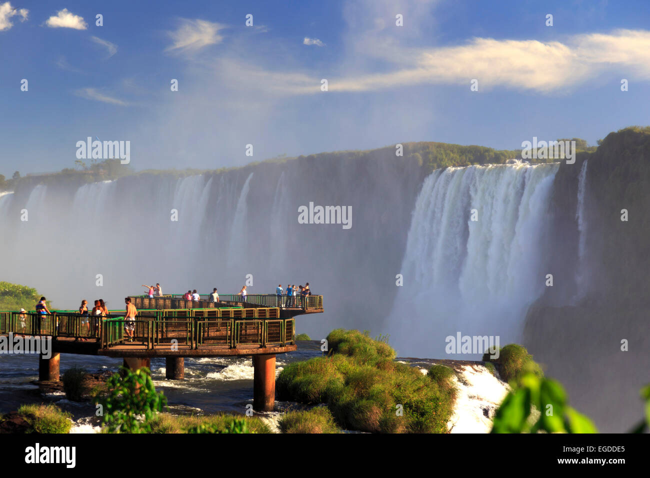
POLYGON ((545 254, 555 283, 528 310, 524 345, 601 431, 627 431, 640 419, 638 391, 650 380, 650 132, 611 133, 597 152, 561 165, 551 210, 545 254))

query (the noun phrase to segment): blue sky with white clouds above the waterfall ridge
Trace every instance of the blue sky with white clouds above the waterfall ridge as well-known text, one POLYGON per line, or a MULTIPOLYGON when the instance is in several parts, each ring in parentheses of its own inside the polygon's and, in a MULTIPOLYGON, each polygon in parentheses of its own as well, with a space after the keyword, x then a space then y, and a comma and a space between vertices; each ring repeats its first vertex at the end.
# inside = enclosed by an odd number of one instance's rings
POLYGON ((650 124, 647 1, 0 0, 0 62, 5 176, 73 167, 88 136, 142 170, 650 124))

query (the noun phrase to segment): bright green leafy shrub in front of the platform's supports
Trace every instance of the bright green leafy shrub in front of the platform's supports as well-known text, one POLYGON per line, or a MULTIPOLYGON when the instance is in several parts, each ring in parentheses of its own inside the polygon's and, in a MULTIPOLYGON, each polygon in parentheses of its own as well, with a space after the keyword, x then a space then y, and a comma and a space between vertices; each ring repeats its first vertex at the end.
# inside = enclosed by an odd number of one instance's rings
POLYGON ((149 421, 167 405, 167 399, 156 392, 147 367, 135 372, 120 369, 122 375, 114 373, 107 380, 107 396, 100 400, 102 424, 111 433, 148 433, 149 421))

